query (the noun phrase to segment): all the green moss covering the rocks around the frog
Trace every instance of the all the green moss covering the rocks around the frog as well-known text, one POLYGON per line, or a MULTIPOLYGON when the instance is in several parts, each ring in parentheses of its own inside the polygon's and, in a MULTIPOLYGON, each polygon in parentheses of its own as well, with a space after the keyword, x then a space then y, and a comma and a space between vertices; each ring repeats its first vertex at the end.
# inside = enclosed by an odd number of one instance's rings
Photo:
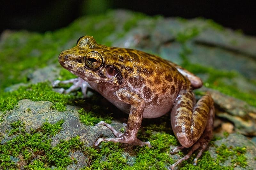
MULTIPOLYGON (((123 32, 118 32, 120 37, 131 29, 132 26, 136 26, 139 19, 147 18, 147 16, 142 14, 132 16, 133 17, 124 24, 123 32)), ((37 68, 47 66, 48 64, 57 63, 57 56, 60 51, 75 46, 76 39, 84 34, 94 36, 98 43, 111 45, 111 42, 103 40, 104 37, 107 37, 116 30, 115 24, 111 24, 111 22, 114 22, 111 18, 113 18, 113 13, 109 12, 107 15, 80 18, 67 28, 55 32, 39 34, 18 31, 8 35, 8 38, 1 44, 0 52, 0 63, 4 63, 0 66, 0 111, 2 112, 0 122, 3 121, 2 118, 5 111, 13 109, 18 101, 22 99, 51 101, 54 103, 53 109, 59 111, 64 111, 67 104, 81 104, 83 102, 81 92, 78 92, 75 96, 59 94, 52 90, 49 82, 21 86, 12 92, 4 92, 4 88, 16 83, 28 83, 29 79, 27 75, 29 73, 37 68)), ((190 33, 191 34, 180 33, 177 37, 177 41, 185 43, 188 39, 197 35, 198 30, 194 28, 190 33)), ((189 50, 184 48, 184 52, 180 55, 186 59, 188 52, 189 50)), ((245 94, 240 92, 236 87, 226 86, 221 82, 220 78, 232 78, 238 73, 206 68, 200 65, 190 64, 186 62, 186 60, 184 60, 183 66, 195 74, 209 73, 210 77, 204 82, 206 86, 220 90, 223 93, 245 100, 249 104, 256 106, 256 101, 254 100, 255 92, 245 94)), ((61 71, 60 79, 68 79, 71 77, 74 77, 71 73, 61 71)), ((256 84, 256 82, 254 83, 256 84)), ((85 112, 81 109, 79 111, 81 122, 86 125, 94 125, 100 120, 110 122, 111 117, 101 117, 100 112, 104 112, 104 109, 102 110, 100 107, 95 107, 91 112, 85 112)), ((166 120, 163 122, 165 123, 166 120)), ((0 167, 3 169, 15 169, 19 167, 14 161, 14 158, 19 157, 21 161, 27 164, 26 168, 28 169, 50 169, 52 166, 62 169, 70 164, 76 163, 76 160, 72 160, 68 155, 69 152, 75 151, 81 151, 84 155, 88 156, 89 159, 87 163, 90 166, 84 169, 97 169, 98 167, 102 169, 166 169, 168 165, 174 163, 174 160, 169 157, 169 146, 177 145, 177 140, 173 135, 170 135, 171 131, 170 129, 168 130, 170 127, 167 125, 163 126, 157 123, 145 125, 143 129, 148 130, 140 130, 139 138, 141 140, 149 140, 153 148, 132 146, 132 153, 127 153, 134 155, 135 160, 132 160, 131 157, 127 157, 124 154, 127 148, 125 144, 102 143, 100 147, 97 148, 84 148, 79 137, 75 137, 68 141, 61 141, 57 146, 52 147, 49 137, 55 136, 56 133, 60 131, 62 123, 63 121, 60 121, 51 125, 45 122, 40 131, 31 129, 31 132, 27 133, 24 131, 22 122, 13 122, 11 124, 12 130, 8 132, 13 138, 0 145, 0 167), (38 159, 34 159, 34 155, 41 156, 38 159), (128 160, 128 158, 131 160, 128 160), (32 159, 33 161, 31 161, 32 159)), ((198 166, 191 164, 193 157, 195 157, 195 154, 193 154, 190 159, 181 164, 181 169, 232 169, 233 167, 223 167, 219 165, 220 162, 230 157, 234 159, 234 161, 232 160, 233 162, 240 163, 240 166, 246 166, 244 148, 227 148, 223 145, 217 148, 216 151, 221 157, 213 159, 209 152, 206 151, 202 159, 200 159, 198 166)), ((183 152, 180 152, 180 155, 184 155, 183 152)))

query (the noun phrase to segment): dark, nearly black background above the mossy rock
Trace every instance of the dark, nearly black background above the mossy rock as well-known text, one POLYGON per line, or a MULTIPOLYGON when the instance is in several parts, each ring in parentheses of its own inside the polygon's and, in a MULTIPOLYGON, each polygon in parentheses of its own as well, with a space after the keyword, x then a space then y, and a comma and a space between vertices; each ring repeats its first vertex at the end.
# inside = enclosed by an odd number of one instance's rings
POLYGON ((256 35, 256 2, 253 1, 121 1, 121 0, 38 0, 0 1, 0 32, 26 29, 45 32, 65 27, 83 15, 109 9, 128 9, 164 17, 213 19, 222 26, 256 35))

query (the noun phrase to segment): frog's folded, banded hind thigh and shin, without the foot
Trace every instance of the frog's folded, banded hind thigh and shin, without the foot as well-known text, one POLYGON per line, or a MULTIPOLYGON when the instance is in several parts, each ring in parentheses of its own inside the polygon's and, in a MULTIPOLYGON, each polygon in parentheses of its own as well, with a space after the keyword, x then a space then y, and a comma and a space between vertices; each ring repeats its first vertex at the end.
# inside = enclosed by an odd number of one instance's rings
POLYGON ((180 91, 172 108, 171 123, 182 146, 188 148, 202 136, 212 108, 213 100, 209 95, 203 96, 194 105, 193 92, 180 91))

